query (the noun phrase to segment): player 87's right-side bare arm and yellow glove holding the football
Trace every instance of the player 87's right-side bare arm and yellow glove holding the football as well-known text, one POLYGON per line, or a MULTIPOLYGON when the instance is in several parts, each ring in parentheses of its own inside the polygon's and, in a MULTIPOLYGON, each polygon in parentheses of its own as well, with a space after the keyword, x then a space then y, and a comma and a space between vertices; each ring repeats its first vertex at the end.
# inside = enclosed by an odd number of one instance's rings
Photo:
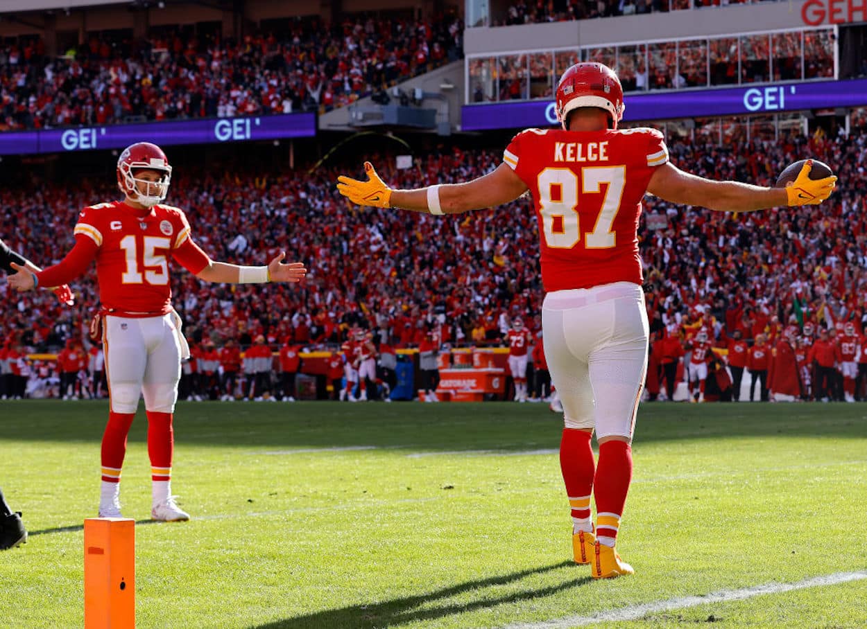
POLYGON ((716 211, 746 212, 786 205, 815 205, 831 196, 837 178, 811 179, 811 167, 809 162, 805 164, 798 178, 786 188, 763 188, 698 177, 668 163, 655 169, 648 191, 672 203, 716 211))

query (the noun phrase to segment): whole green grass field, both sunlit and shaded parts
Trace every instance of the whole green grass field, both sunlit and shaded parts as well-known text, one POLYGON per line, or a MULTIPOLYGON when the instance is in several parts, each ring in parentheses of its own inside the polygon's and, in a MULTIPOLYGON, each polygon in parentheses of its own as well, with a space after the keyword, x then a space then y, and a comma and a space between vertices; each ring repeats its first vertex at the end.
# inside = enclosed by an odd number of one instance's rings
MULTIPOLYGON (((31 535, 0 554, 0 627, 82 626, 106 415, 0 403, 0 487, 31 535)), ((618 544, 636 576, 602 582, 570 562, 546 405, 180 404, 173 524, 147 522, 146 425, 121 490, 139 627, 867 626, 862 578, 676 601, 867 576, 865 405, 642 405, 618 544)))

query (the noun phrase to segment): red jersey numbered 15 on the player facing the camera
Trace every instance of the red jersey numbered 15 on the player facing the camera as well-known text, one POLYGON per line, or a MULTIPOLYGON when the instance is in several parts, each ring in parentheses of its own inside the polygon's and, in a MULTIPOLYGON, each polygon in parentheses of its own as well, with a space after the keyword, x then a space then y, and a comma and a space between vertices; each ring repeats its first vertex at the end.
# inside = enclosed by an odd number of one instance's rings
POLYGON ((138 217, 122 201, 81 211, 75 235, 96 243, 96 276, 105 308, 165 315, 172 309, 168 258, 190 237, 184 212, 154 205, 138 217))

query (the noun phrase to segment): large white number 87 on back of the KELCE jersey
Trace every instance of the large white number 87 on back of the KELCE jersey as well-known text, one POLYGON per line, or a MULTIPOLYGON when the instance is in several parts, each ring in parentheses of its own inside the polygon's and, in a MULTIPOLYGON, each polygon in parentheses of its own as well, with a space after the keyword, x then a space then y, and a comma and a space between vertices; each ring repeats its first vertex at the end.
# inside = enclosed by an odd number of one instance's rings
MULTIPOLYGON (((616 244, 611 227, 620 210, 626 166, 584 166, 581 192, 599 192, 607 184, 602 209, 593 230, 584 234, 587 249, 610 249, 616 244)), ((538 174, 539 211, 545 243, 555 249, 571 249, 581 239, 578 218, 578 176, 569 168, 545 168, 538 174)))

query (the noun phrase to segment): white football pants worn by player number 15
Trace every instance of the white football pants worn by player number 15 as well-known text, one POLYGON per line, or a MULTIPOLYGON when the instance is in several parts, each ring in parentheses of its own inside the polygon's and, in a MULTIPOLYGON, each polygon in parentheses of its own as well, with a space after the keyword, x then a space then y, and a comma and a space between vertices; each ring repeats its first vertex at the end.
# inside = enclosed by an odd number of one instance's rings
POLYGON ((174 412, 178 400, 180 331, 173 314, 133 319, 107 315, 103 343, 111 410, 174 412))

